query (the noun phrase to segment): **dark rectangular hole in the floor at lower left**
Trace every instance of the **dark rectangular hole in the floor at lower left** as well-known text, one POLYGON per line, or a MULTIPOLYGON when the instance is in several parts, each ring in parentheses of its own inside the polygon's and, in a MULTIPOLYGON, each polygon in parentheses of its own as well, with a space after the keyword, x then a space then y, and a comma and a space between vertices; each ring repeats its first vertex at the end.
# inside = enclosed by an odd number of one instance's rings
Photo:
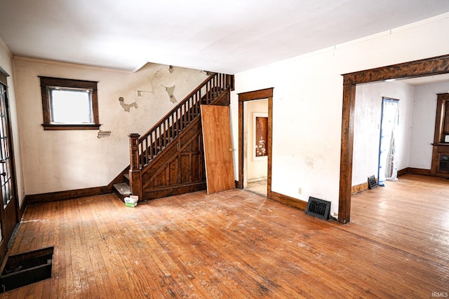
POLYGON ((51 278, 53 247, 9 256, 0 277, 0 293, 51 278))

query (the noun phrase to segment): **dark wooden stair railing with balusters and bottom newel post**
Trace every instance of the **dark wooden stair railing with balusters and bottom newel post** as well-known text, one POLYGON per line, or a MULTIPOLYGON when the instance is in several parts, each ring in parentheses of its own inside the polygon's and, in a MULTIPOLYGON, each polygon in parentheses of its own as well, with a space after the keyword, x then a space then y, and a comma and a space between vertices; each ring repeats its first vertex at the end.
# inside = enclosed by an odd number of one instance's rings
POLYGON ((210 104, 227 88, 234 89, 234 76, 213 73, 142 137, 139 134, 128 135, 131 192, 134 183, 141 183, 140 170, 199 116, 201 104, 210 104))

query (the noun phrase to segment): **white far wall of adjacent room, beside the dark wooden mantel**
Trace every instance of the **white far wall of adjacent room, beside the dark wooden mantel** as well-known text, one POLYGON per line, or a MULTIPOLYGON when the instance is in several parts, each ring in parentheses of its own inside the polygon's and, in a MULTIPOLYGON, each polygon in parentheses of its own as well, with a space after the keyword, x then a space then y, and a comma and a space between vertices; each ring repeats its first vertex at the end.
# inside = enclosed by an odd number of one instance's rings
POLYGON ((409 167, 431 169, 436 98, 438 93, 448 90, 449 81, 415 86, 409 167))

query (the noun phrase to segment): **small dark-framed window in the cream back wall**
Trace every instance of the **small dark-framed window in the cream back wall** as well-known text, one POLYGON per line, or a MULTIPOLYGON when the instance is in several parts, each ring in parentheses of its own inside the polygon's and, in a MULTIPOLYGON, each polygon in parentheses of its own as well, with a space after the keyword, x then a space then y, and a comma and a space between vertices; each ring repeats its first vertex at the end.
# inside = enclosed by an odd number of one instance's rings
POLYGON ((98 130, 97 82, 41 78, 44 130, 98 130))

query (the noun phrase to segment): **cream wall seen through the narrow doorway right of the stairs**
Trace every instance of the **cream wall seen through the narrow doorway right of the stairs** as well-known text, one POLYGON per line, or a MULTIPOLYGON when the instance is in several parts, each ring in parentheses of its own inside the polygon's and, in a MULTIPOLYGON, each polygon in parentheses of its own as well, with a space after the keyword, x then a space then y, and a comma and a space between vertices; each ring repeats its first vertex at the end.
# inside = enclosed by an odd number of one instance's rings
POLYGON ((268 170, 268 156, 255 157, 255 144, 256 140, 254 138, 255 127, 253 123, 253 118, 255 113, 257 115, 264 114, 268 117, 268 99, 260 99, 257 101, 248 101, 246 104, 246 165, 247 165, 247 175, 246 181, 257 180, 267 178, 268 170))

